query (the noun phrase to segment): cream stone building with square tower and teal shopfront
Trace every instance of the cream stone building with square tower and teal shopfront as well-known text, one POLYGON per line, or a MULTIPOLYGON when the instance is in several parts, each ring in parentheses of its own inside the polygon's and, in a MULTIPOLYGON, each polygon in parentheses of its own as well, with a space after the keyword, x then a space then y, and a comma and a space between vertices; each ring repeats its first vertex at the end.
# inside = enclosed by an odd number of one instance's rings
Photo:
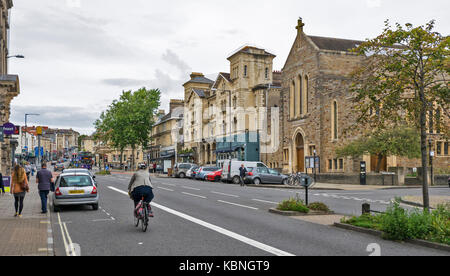
POLYGON ((281 72, 273 72, 274 58, 244 46, 228 58, 230 73, 219 73, 215 81, 191 74, 183 85, 184 147, 193 150, 196 163, 220 165, 233 158, 280 168, 281 72))

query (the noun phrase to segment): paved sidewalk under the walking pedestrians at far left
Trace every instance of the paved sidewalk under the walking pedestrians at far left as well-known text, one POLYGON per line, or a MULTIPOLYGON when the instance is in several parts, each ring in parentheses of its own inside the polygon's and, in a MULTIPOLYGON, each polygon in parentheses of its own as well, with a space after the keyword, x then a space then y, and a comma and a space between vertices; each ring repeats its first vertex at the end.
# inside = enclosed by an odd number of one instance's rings
POLYGON ((0 195, 0 256, 53 256, 50 214, 41 214, 35 176, 30 177, 22 217, 14 217, 14 196, 0 195))

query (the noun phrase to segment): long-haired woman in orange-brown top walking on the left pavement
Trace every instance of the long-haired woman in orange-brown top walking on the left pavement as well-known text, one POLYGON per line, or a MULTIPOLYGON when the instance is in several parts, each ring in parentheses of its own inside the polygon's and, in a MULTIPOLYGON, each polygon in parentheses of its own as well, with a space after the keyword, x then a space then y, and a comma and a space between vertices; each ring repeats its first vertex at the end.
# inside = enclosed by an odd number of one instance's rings
POLYGON ((23 202, 25 194, 29 192, 28 179, 26 171, 20 165, 14 166, 11 178, 11 194, 14 195, 15 217, 22 217, 23 202))

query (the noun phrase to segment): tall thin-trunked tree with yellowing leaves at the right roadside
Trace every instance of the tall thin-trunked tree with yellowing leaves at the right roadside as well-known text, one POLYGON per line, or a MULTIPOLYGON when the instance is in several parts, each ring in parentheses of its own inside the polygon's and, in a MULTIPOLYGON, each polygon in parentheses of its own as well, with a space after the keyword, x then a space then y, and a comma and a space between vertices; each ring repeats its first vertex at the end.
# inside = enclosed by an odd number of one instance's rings
POLYGON ((376 129, 407 122, 420 131, 423 204, 428 209, 427 125, 448 137, 450 38, 433 32, 434 20, 419 27, 397 23, 395 29, 385 23, 381 35, 354 50, 368 57, 353 75, 357 121, 376 129))

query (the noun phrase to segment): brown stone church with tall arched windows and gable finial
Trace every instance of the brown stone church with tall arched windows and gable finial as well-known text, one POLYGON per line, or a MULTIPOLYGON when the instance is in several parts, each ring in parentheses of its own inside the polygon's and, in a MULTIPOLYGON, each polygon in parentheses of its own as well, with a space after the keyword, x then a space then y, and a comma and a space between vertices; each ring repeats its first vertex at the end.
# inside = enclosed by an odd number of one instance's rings
MULTIPOLYGON (((360 161, 368 172, 376 168, 374 156, 337 158, 335 150, 356 139, 355 112, 350 94, 350 74, 364 57, 349 52, 362 41, 309 36, 298 21, 297 37, 282 73, 283 171, 308 172, 307 156, 320 158, 321 173, 359 173, 360 161), (344 131, 346 130, 346 131, 344 131), (314 153, 315 151, 315 153, 314 153)), ((440 148, 435 167, 449 170, 448 143, 434 142, 440 148)), ((420 167, 420 160, 385 157, 381 168, 420 167)))

